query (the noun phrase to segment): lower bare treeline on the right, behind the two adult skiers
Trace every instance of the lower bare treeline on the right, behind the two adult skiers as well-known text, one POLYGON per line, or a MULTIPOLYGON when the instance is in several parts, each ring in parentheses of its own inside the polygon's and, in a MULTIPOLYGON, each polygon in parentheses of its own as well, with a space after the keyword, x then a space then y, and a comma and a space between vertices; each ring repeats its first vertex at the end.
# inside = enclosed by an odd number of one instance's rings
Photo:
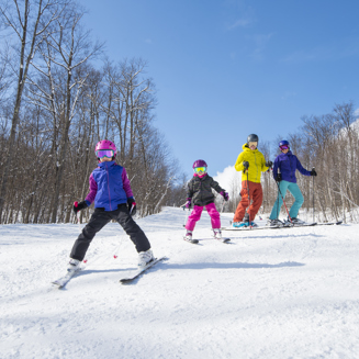
MULTIPOLYGON (((304 197, 300 212, 304 220, 311 221, 313 212, 315 221, 359 220, 359 123, 356 120, 354 104, 348 102, 335 105, 328 114, 303 116, 303 125, 296 133, 278 136, 272 144, 259 141, 259 150, 266 159, 274 160, 280 154, 278 143, 288 139, 303 167, 315 168, 318 176, 314 178, 296 172, 304 197)), ((272 172, 263 173, 261 183, 263 202, 259 214, 270 213, 278 193, 272 172)), ((240 176, 233 181, 226 211, 235 211, 239 191, 240 176)), ((288 192, 285 204, 290 207, 292 203, 293 197, 288 192)), ((281 215, 287 216, 284 206, 281 215)))

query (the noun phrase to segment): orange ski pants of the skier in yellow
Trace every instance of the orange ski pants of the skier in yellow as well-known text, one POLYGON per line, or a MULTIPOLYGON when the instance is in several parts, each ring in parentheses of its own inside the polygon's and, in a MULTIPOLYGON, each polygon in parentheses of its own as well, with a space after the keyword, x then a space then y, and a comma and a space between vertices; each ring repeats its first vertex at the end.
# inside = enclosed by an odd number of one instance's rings
POLYGON ((242 181, 240 202, 234 214, 233 222, 242 222, 245 216, 246 209, 249 205, 249 221, 255 221, 256 214, 258 213, 261 202, 263 200, 263 191, 260 183, 242 181), (248 201, 248 188, 249 188, 249 201, 248 201))

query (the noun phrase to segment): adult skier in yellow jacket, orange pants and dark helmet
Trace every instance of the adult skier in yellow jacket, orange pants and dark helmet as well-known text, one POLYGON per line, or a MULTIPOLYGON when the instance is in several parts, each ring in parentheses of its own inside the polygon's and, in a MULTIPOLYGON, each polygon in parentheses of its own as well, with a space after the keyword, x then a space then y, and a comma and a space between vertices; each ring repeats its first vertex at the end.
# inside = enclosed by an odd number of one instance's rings
POLYGON ((257 147, 258 136, 250 134, 247 138, 247 143, 243 145, 243 152, 239 154, 234 165, 238 172, 243 172, 242 199, 234 214, 234 227, 256 226, 254 221, 263 199, 260 176, 261 172, 267 171, 273 164, 272 161, 266 162, 265 156, 257 147), (253 201, 251 204, 250 201, 253 201), (248 206, 249 209, 246 212, 248 206))

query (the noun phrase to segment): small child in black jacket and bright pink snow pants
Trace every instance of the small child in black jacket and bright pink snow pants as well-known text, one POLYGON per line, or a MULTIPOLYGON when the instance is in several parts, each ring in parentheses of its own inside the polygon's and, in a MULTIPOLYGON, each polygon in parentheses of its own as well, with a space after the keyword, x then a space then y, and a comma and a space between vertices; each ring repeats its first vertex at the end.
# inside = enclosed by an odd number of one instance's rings
POLYGON ((205 206, 209 215, 211 216, 212 228, 214 237, 222 239, 221 233, 221 217, 214 204, 214 194, 212 189, 223 195, 225 201, 228 201, 228 193, 220 187, 220 184, 206 172, 207 165, 203 159, 198 159, 193 164, 194 175, 188 182, 188 194, 186 207, 190 209, 193 204, 193 211, 189 215, 186 224, 184 240, 192 242, 192 232, 195 223, 201 218, 203 207, 205 206))

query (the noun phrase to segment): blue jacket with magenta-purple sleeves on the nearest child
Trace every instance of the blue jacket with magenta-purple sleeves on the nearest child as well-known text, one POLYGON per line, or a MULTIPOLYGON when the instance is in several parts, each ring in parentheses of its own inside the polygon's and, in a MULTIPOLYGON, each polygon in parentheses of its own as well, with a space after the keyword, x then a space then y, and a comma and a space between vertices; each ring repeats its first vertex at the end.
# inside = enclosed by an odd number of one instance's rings
POLYGON ((90 192, 86 201, 89 205, 94 201, 96 209, 115 211, 119 204, 127 203, 127 198, 133 198, 127 172, 114 160, 100 162, 89 182, 90 192))

